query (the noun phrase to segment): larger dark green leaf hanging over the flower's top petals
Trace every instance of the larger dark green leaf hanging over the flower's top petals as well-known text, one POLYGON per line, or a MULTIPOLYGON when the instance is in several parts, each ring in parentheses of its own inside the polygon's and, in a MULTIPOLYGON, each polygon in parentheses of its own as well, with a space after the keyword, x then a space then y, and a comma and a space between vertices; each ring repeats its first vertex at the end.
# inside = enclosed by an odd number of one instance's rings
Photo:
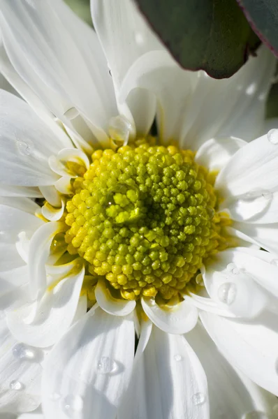
POLYGON ((235 0, 136 0, 173 57, 189 70, 228 78, 259 40, 235 0))

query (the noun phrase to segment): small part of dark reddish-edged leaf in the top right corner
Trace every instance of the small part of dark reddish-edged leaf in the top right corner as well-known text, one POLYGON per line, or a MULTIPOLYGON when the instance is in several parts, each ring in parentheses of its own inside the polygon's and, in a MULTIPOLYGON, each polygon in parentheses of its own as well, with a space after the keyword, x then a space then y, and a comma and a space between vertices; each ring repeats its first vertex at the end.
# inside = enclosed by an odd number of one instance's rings
POLYGON ((278 1, 237 0, 261 41, 278 56, 278 1))

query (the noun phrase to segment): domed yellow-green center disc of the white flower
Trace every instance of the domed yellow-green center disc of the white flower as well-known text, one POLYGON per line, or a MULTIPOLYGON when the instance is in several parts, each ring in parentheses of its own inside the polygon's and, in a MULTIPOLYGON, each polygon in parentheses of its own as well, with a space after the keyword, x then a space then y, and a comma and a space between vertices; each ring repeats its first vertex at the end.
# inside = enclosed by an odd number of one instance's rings
POLYGON ((224 247, 214 179, 193 152, 155 139, 97 150, 66 203, 68 252, 126 300, 169 300, 224 247))

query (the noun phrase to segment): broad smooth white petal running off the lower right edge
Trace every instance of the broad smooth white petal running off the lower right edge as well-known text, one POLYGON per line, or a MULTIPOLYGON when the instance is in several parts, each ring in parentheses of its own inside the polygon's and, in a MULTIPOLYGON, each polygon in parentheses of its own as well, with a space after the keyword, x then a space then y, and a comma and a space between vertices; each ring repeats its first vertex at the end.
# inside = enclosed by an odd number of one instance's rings
POLYGON ((278 394, 277 320, 273 315, 256 323, 240 323, 203 311, 201 321, 221 353, 252 381, 278 394))

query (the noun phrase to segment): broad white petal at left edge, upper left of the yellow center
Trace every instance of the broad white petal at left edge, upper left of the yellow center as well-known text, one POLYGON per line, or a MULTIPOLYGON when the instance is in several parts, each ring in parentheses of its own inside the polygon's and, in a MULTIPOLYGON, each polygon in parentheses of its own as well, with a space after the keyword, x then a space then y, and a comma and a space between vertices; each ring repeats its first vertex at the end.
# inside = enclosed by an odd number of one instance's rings
POLYGON ((20 98, 0 91, 1 182, 17 186, 53 184, 47 157, 59 151, 52 131, 20 98))

